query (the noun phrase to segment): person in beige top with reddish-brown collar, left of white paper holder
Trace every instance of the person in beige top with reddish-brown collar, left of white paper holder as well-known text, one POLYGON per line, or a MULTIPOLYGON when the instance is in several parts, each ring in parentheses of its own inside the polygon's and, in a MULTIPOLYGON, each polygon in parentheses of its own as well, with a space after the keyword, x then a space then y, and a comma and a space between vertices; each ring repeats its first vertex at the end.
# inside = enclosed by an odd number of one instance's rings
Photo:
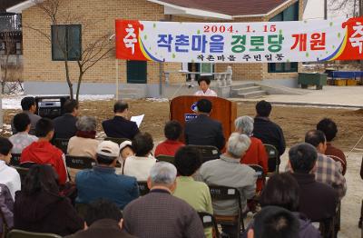
POLYGON ((67 154, 96 158, 96 150, 100 142, 95 139, 96 119, 83 115, 75 123, 77 133, 68 142, 67 154))

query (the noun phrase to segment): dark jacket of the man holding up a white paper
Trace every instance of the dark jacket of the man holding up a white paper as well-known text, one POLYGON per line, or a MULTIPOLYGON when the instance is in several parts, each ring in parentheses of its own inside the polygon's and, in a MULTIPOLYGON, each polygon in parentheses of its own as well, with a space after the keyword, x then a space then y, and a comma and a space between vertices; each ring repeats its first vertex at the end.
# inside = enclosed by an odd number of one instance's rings
POLYGON ((103 121, 103 131, 108 137, 132 140, 139 133, 139 128, 135 122, 126 120, 123 116, 114 116, 113 119, 103 121))

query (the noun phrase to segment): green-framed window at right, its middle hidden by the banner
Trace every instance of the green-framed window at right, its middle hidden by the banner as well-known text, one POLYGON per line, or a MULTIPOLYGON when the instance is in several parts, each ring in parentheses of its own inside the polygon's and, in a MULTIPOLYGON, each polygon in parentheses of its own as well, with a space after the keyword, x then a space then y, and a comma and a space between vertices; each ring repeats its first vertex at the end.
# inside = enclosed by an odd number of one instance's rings
MULTIPOLYGON (((273 16, 270 22, 299 21, 299 1, 273 16)), ((269 63, 269 73, 298 72, 298 63, 269 63)))

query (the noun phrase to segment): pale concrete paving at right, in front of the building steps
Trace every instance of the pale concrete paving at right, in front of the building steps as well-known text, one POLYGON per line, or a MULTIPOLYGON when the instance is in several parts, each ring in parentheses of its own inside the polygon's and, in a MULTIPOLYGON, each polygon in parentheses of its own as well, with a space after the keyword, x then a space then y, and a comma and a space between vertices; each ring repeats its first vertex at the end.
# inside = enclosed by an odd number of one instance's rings
POLYGON ((363 86, 324 86, 322 90, 294 89, 302 95, 270 94, 259 98, 230 98, 232 101, 256 102, 262 99, 273 104, 324 105, 363 108, 363 86))

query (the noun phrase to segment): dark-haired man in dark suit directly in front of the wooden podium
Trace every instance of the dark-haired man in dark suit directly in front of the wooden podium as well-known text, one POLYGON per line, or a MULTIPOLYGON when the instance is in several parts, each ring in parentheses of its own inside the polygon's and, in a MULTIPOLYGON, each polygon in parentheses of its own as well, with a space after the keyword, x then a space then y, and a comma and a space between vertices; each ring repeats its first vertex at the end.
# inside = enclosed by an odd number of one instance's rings
POLYGON ((201 99, 197 102, 198 116, 185 124, 185 144, 213 145, 224 147, 224 134, 221 123, 210 118, 211 101, 201 99))

